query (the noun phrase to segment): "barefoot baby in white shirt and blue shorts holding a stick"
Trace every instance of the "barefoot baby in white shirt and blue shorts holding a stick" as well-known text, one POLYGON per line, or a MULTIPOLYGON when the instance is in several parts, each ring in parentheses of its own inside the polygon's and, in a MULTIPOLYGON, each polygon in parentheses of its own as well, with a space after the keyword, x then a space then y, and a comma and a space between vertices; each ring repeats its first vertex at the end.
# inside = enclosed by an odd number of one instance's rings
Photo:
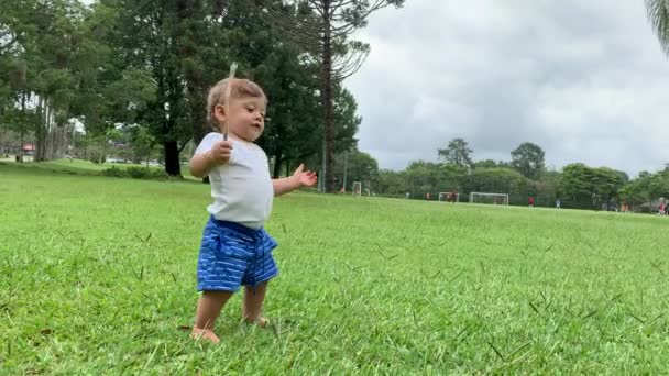
POLYGON ((220 342, 213 324, 228 299, 244 286, 242 314, 246 322, 264 327, 261 316, 270 279, 278 274, 272 256, 276 242, 264 230, 272 202, 279 196, 316 184, 316 174, 299 165, 292 176, 272 179, 267 156, 254 144, 263 133, 267 98, 246 79, 223 79, 209 91, 207 118, 218 132, 202 139, 193 158, 190 173, 209 176, 213 202, 197 264, 197 290, 201 297, 191 336, 220 342), (231 85, 230 98, 226 98, 231 85))

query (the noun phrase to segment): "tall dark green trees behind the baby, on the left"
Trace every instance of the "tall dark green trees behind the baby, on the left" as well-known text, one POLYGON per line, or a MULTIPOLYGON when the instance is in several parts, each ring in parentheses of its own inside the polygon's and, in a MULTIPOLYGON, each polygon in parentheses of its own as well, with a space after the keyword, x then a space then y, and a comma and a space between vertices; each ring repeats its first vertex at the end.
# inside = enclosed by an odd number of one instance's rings
POLYGON ((160 147, 165 172, 179 176, 184 148, 209 131, 207 91, 235 62, 270 98, 259 143, 273 175, 319 166, 357 145, 361 118, 341 84, 370 46, 350 34, 402 2, 2 1, 0 142, 34 140, 35 161, 78 152, 102 162, 122 139, 134 159, 160 147))

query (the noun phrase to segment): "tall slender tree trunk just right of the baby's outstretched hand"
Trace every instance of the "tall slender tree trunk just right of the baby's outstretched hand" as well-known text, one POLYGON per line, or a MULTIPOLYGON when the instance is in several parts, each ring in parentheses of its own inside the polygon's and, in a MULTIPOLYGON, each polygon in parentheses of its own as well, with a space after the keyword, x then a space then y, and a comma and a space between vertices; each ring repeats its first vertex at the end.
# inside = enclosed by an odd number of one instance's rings
POLYGON ((334 188, 334 124, 333 124, 333 103, 332 103, 332 44, 331 44, 331 27, 330 27, 330 1, 323 1, 322 21, 323 21, 323 46, 322 46, 322 65, 321 65, 321 90, 320 98, 323 110, 323 158, 325 158, 325 192, 332 192, 334 188))

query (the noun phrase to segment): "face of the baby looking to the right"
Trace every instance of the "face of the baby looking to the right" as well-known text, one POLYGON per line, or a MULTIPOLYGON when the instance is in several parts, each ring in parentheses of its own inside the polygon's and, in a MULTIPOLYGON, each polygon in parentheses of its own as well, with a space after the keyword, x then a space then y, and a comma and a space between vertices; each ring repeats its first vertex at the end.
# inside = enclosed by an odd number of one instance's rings
POLYGON ((265 99, 233 99, 227 115, 230 133, 241 140, 254 142, 265 130, 265 99))

